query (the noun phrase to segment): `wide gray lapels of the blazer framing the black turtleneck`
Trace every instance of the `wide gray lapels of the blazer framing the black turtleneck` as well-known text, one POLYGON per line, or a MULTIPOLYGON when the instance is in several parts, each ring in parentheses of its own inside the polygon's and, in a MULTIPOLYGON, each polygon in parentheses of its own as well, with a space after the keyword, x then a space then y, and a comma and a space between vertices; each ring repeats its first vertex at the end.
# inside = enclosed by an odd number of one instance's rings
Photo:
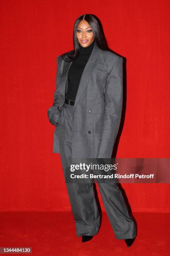
MULTIPOLYGON (((97 64, 98 52, 99 52, 99 47, 95 43, 94 48, 92 49, 92 53, 90 54, 90 58, 88 59, 86 65, 85 65, 85 68, 82 72, 80 84, 79 84, 79 87, 77 90, 77 95, 75 98, 74 109, 75 109, 77 103, 79 102, 83 91, 85 90, 87 82, 90 78, 90 74, 92 73, 93 67, 95 67, 95 64, 97 64)), ((60 78, 60 94, 64 97, 64 100, 65 100, 65 92, 67 92, 67 87, 68 87, 68 70, 69 70, 71 64, 72 64, 72 61, 71 62, 64 61, 62 75, 60 78)))

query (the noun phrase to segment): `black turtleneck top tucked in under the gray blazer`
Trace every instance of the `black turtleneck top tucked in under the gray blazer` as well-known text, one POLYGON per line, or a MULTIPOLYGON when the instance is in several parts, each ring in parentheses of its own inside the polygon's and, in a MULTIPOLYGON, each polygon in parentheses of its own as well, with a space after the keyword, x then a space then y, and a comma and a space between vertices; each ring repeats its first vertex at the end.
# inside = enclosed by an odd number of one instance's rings
POLYGON ((90 57, 92 49, 95 45, 95 41, 93 41, 89 46, 82 47, 80 44, 80 53, 78 57, 72 61, 72 64, 68 71, 68 90, 66 97, 69 100, 75 100, 78 86, 80 83, 80 78, 82 76, 82 72, 85 68, 85 65, 90 57))

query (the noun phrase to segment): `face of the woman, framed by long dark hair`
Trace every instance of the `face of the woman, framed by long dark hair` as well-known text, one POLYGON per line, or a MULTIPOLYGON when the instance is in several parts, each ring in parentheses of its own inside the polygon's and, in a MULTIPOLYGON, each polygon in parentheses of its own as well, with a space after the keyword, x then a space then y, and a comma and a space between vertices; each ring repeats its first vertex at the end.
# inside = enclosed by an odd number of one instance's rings
POLYGON ((78 23, 77 40, 82 47, 87 47, 94 41, 92 27, 86 20, 78 23))

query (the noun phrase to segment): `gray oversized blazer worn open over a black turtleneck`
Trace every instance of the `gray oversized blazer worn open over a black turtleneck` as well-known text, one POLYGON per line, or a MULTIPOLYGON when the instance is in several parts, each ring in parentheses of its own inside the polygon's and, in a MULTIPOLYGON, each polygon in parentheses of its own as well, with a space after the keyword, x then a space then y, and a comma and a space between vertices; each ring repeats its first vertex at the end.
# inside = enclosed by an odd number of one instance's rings
MULTIPOLYGON (((72 62, 57 57, 53 106, 47 110, 55 125, 53 153, 60 153, 57 124, 68 88, 72 62)), ((120 126, 123 92, 123 58, 101 50, 95 43, 83 70, 72 119, 72 158, 111 158, 120 126), (91 133, 89 133, 91 131, 91 133)))

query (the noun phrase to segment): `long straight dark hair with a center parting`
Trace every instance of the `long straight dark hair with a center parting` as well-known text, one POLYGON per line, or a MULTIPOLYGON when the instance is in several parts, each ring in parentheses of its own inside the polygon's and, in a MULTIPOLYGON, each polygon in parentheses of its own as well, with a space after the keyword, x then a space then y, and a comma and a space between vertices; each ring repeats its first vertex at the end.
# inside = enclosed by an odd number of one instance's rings
POLYGON ((97 16, 95 16, 93 14, 83 14, 83 15, 79 16, 77 18, 77 20, 75 20, 74 29, 73 29, 74 50, 67 51, 66 53, 61 55, 62 59, 64 59, 67 62, 73 61, 74 59, 77 58, 77 56, 79 54, 80 46, 79 46, 79 42, 77 40, 76 34, 77 34, 78 23, 83 19, 85 19, 92 27, 94 41, 97 44, 97 46, 102 50, 106 50, 106 51, 109 50, 109 48, 107 46, 107 41, 105 39, 104 32, 102 29, 102 24, 101 24, 99 18, 97 18, 97 16))

